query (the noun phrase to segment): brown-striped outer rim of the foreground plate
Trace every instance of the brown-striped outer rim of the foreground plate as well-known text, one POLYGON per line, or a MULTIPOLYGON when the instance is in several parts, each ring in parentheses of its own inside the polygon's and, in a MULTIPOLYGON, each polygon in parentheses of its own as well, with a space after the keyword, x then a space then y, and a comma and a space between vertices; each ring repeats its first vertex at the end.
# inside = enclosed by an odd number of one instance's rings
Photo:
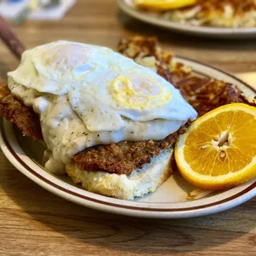
MULTIPOLYGON (((256 94, 256 89, 248 85, 246 82, 243 82, 240 78, 237 78, 235 75, 226 72, 225 70, 220 70, 214 66, 210 66, 203 62, 194 61, 190 58, 182 58, 180 56, 175 56, 176 58, 184 61, 194 62, 195 64, 200 64, 206 66, 212 70, 217 70, 222 74, 226 74, 230 78, 234 78, 238 82, 242 83, 243 86, 246 86, 250 90, 254 91, 256 94)), ((123 214, 130 215, 135 217, 142 218, 188 218, 188 217, 197 217, 206 214, 213 214, 223 210, 228 210, 234 206, 238 206, 242 202, 248 201, 250 198, 256 196, 256 182, 253 182, 250 186, 247 186, 244 190, 233 194, 228 198, 221 199, 217 202, 212 202, 210 204, 204 204, 202 206, 192 206, 186 208, 150 208, 150 207, 138 207, 138 206, 127 206, 119 205, 113 202, 107 202, 98 200, 96 198, 90 198, 86 195, 78 194, 72 190, 67 190, 62 186, 58 186, 54 182, 42 177, 35 170, 31 169, 30 166, 27 166, 18 154, 14 151, 10 142, 6 138, 6 134, 3 129, 3 118, 1 118, 1 127, 0 127, 0 146, 2 152, 6 155, 6 158, 18 169, 25 174, 26 177, 30 178, 32 181, 36 182, 39 186, 42 186, 46 190, 57 194, 62 198, 66 198, 71 202, 76 202, 82 206, 88 206, 95 210, 102 210, 114 214, 123 214)), ((19 145, 20 146, 20 145, 19 145)), ((22 148, 22 146, 20 146, 22 148)), ((29 156, 28 156, 29 157, 29 156)), ((107 197, 104 197, 107 198, 107 197)), ((139 202, 138 202, 139 203, 139 202)))

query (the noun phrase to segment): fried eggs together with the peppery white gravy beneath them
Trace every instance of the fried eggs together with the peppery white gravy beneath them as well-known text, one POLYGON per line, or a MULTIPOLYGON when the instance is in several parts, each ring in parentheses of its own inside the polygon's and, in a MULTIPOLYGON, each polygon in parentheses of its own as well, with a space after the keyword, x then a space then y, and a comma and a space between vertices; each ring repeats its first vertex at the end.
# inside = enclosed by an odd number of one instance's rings
POLYGON ((106 47, 52 42, 27 50, 9 88, 40 115, 53 158, 87 147, 159 140, 197 117, 169 82, 106 47))

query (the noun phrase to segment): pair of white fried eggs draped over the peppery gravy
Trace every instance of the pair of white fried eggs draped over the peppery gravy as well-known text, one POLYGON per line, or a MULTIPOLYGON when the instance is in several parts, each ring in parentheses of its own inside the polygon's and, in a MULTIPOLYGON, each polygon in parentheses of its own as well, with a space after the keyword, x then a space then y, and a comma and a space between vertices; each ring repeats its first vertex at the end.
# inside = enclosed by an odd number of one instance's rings
POLYGON ((105 47, 65 41, 38 46, 23 54, 9 76, 42 93, 67 94, 90 131, 120 130, 122 117, 138 122, 196 117, 169 82, 105 47))

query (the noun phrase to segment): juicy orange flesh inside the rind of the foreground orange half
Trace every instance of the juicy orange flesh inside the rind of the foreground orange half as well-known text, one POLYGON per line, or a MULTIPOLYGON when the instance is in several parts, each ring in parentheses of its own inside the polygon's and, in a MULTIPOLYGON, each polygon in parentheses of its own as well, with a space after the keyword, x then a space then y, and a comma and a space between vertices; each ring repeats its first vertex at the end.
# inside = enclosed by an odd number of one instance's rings
POLYGON ((191 169, 203 175, 242 170, 256 156, 254 115, 235 110, 208 119, 186 138, 184 156, 191 169))

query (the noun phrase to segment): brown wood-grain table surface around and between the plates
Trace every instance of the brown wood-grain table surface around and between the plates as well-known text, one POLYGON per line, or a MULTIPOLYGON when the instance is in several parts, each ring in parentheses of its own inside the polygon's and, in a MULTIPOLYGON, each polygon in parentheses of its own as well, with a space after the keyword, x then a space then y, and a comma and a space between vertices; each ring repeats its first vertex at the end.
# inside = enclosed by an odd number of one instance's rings
MULTIPOLYGON (((61 22, 14 27, 27 48, 58 39, 115 47, 157 35, 165 49, 230 72, 256 70, 255 41, 189 38, 142 24, 114 0, 81 0, 61 22)), ((18 65, 0 43, 0 77, 18 65)), ((0 152, 0 255, 256 255, 256 198, 220 214, 181 220, 127 218, 66 202, 31 182, 0 152)))

